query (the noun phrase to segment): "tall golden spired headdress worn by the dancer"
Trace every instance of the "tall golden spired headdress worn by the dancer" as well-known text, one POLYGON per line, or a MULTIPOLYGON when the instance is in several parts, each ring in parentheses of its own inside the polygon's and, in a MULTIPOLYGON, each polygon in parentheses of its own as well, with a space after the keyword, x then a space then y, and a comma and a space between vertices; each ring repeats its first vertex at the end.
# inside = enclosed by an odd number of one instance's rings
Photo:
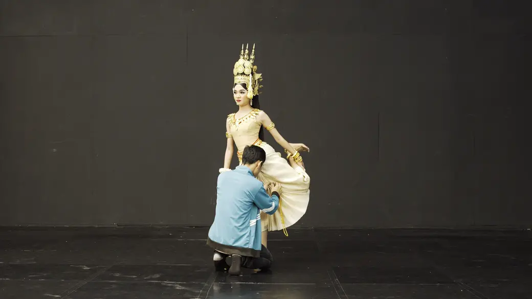
POLYGON ((234 85, 245 83, 247 85, 247 97, 252 99, 253 96, 259 94, 259 88, 262 87, 262 85, 259 85, 259 82, 262 81, 262 76, 261 74, 256 73, 257 66, 253 65, 253 62, 255 61, 255 44, 253 44, 253 50, 249 57, 248 54, 250 52, 247 50, 248 45, 246 45, 246 52, 244 52, 244 44, 242 44, 240 59, 235 63, 233 75, 235 76, 234 85))

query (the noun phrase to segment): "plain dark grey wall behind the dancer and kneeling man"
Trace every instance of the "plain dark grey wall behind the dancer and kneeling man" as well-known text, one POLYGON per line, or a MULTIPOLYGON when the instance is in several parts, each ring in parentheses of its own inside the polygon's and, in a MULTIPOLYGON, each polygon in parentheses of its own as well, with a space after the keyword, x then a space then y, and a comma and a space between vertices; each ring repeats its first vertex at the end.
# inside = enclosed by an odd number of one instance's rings
POLYGON ((242 43, 298 226, 532 224, 526 2, 247 3, 1 0, 0 225, 210 225, 242 43))

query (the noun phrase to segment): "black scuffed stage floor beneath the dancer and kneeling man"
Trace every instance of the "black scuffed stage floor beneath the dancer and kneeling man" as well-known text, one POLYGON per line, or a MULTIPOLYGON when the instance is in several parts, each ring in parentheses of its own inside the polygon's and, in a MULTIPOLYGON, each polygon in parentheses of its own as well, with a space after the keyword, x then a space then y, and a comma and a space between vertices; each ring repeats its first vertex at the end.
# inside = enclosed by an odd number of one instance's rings
POLYGON ((0 298, 532 298, 532 233, 290 230, 268 273, 212 269, 207 229, 0 228, 0 298))

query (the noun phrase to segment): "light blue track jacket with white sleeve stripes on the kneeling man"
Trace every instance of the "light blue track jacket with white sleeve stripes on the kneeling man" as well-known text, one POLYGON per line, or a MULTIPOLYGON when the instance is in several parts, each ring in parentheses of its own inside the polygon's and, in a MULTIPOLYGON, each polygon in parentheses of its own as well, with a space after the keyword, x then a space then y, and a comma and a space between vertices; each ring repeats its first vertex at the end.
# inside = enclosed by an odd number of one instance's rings
POLYGON ((227 254, 258 257, 261 251, 261 215, 272 215, 279 194, 269 196, 260 180, 244 165, 218 176, 216 215, 207 245, 227 254))

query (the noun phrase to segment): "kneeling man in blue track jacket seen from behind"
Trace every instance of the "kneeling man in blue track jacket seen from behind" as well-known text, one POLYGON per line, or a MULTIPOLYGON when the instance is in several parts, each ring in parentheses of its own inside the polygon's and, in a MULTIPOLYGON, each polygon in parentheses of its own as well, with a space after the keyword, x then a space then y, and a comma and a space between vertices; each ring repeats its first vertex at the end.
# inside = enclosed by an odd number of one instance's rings
POLYGON ((216 215, 209 230, 207 245, 214 248, 217 270, 227 268, 232 256, 230 275, 239 275, 240 267, 269 269, 273 258, 261 244, 261 211, 272 215, 279 206, 280 185, 264 186, 259 175, 266 152, 259 146, 246 146, 242 165, 218 176, 216 215), (266 189, 270 187, 271 196, 266 189))

